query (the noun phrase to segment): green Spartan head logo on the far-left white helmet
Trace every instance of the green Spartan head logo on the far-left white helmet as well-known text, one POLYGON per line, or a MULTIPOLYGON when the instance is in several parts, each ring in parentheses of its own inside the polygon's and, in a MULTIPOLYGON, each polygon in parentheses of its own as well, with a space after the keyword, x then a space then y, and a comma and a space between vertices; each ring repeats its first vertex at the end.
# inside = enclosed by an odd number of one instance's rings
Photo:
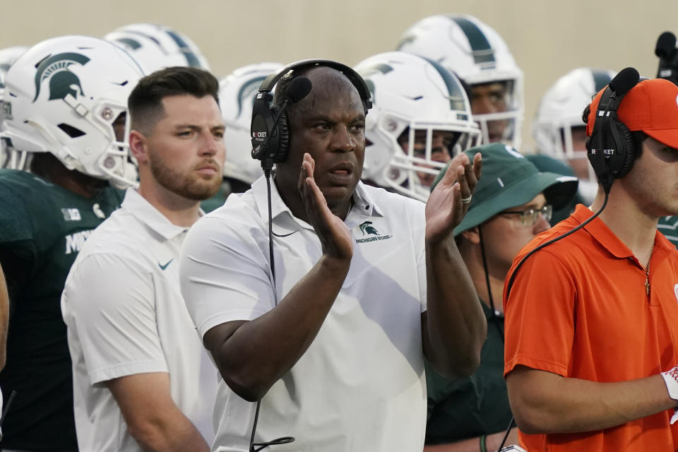
POLYGON ((84 66, 90 59, 85 55, 66 52, 53 55, 40 61, 35 73, 35 98, 40 95, 40 87, 45 80, 49 80, 49 100, 65 99, 67 95, 78 98, 84 95, 80 79, 76 74, 69 71, 72 64, 84 66))

